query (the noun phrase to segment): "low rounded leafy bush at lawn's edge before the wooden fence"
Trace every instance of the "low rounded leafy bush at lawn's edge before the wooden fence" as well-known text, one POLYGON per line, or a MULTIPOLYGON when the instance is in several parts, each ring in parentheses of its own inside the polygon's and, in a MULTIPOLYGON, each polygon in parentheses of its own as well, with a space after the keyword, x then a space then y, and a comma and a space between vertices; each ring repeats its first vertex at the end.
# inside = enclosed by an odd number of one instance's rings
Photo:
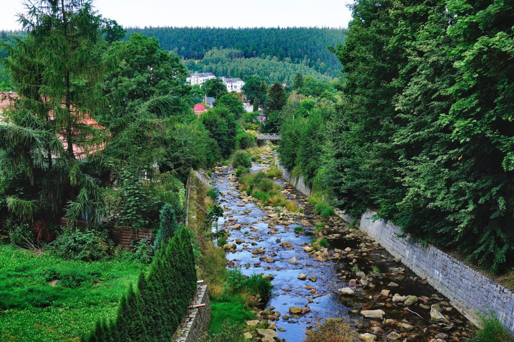
POLYGON ((49 249, 64 259, 99 261, 113 252, 114 245, 106 231, 66 228, 49 249))

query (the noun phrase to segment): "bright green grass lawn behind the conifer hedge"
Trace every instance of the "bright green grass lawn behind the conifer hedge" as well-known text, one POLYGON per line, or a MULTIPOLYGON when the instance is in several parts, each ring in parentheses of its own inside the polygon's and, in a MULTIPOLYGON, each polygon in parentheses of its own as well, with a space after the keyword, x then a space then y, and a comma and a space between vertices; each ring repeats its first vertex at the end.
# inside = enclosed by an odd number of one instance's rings
POLYGON ((78 341, 113 318, 136 261, 87 263, 0 245, 0 340, 78 341))

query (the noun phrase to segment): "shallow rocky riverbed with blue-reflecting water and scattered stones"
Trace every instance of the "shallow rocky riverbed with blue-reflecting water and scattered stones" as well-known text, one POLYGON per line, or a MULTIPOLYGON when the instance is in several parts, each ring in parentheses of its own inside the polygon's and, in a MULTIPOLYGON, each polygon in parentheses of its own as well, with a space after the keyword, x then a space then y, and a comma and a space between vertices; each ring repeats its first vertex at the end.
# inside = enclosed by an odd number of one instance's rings
MULTIPOLYGON (((252 171, 268 168, 276 155, 261 157, 265 162, 254 163, 252 171)), ((228 166, 216 167, 212 182, 225 211, 218 226, 229 232, 223 246, 228 267, 240 267, 246 275, 263 274, 273 285, 256 321, 247 323, 267 319, 271 329, 246 338, 303 341, 328 317, 346 319, 365 341, 445 342, 471 335, 469 321, 424 279, 342 219, 317 215, 284 179, 274 182, 303 213, 264 207, 241 193, 228 166), (311 240, 322 237, 328 247, 313 246, 311 240)))

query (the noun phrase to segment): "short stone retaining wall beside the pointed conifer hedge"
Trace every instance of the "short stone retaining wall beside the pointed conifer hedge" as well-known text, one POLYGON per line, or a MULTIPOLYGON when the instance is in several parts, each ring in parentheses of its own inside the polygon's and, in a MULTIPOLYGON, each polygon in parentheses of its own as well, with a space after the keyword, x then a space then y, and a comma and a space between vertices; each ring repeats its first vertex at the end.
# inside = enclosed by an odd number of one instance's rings
POLYGON ((205 340, 207 328, 211 320, 211 305, 207 286, 198 286, 195 299, 191 305, 206 304, 205 307, 189 309, 177 334, 176 342, 200 342, 205 340))

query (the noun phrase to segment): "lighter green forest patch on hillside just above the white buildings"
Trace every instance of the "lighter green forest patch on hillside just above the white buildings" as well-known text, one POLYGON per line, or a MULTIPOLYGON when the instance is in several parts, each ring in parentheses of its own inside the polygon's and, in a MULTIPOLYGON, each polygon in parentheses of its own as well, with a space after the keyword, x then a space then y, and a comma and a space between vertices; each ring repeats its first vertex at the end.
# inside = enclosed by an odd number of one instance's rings
POLYGON ((290 58, 282 61, 279 61, 276 56, 245 58, 242 51, 236 49, 214 48, 207 51, 200 61, 187 59, 183 63, 192 72, 213 72, 215 75, 241 77, 244 80, 251 76, 257 76, 263 78, 267 84, 280 82, 292 85, 293 78, 298 73, 314 77, 318 81, 332 80, 332 77, 305 64, 292 63, 290 58))

